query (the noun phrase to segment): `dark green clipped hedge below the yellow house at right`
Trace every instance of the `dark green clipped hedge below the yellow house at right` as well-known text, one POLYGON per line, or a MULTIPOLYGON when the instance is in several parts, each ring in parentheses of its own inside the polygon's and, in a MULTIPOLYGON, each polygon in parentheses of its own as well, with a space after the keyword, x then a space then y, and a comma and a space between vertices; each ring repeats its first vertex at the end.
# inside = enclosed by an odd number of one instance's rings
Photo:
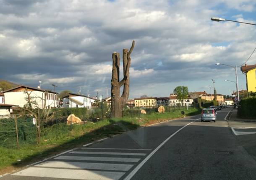
POLYGON ((256 97, 240 100, 238 106, 238 115, 240 117, 256 118, 256 97))

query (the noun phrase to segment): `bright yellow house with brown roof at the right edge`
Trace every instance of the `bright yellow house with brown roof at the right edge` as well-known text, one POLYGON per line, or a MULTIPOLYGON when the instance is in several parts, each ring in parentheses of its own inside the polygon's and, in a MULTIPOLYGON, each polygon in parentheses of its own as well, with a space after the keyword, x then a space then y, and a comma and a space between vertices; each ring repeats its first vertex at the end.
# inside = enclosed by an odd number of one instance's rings
POLYGON ((256 64, 241 66, 241 71, 246 74, 246 88, 248 92, 256 92, 256 64))

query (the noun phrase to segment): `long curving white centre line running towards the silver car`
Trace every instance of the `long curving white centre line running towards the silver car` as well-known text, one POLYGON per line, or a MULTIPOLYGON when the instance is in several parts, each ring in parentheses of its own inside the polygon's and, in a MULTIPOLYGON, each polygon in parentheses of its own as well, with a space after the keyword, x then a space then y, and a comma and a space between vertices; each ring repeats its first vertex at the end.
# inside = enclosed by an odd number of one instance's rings
MULTIPOLYGON (((199 118, 201 119, 201 118, 199 118)), ((198 121, 199 119, 196 119, 194 120, 193 122, 195 121, 198 121)), ((175 133, 173 133, 172 135, 170 135, 169 137, 167 137, 167 139, 165 139, 156 149, 154 149, 143 161, 141 161, 141 163, 138 164, 137 167, 135 167, 128 176, 126 176, 124 178, 124 180, 130 180, 133 175, 136 174, 136 172, 149 160, 150 157, 152 157, 154 155, 154 153, 156 153, 163 145, 165 145, 165 143, 171 139, 175 134, 177 134, 180 130, 182 130, 183 128, 187 127, 189 124, 192 124, 193 122, 190 122, 188 124, 186 124, 185 126, 183 126, 182 128, 178 129, 178 131, 176 131, 175 133)))

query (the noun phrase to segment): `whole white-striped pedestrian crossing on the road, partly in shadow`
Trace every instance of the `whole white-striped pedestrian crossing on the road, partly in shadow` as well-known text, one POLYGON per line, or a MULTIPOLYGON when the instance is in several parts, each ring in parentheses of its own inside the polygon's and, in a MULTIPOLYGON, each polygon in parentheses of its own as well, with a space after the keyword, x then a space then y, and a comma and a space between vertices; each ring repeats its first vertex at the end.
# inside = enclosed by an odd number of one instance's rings
POLYGON ((77 180, 122 180, 151 150, 82 147, 12 174, 77 180))

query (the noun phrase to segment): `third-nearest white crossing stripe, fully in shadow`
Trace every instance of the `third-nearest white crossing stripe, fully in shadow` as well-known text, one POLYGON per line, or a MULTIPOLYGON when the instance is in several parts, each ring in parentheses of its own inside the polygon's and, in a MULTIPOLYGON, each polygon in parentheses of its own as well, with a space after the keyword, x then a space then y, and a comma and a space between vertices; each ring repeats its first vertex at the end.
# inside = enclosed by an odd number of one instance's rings
POLYGON ((87 157, 87 156, 59 156, 55 160, 83 160, 83 161, 113 161, 113 162, 138 162, 140 158, 124 157, 87 157))

